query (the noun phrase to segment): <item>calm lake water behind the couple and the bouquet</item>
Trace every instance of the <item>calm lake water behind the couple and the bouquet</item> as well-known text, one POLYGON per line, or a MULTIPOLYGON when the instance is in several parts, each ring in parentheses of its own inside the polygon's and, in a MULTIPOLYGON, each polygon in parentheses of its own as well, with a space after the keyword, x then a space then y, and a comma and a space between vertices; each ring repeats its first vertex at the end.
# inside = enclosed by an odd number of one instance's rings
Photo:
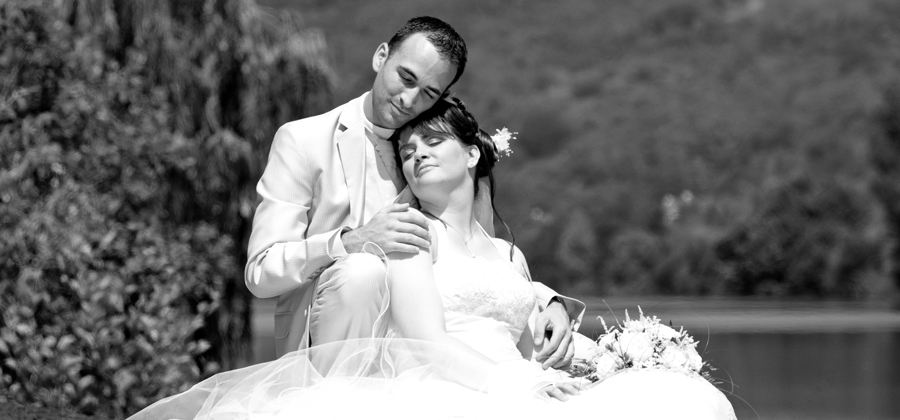
MULTIPOLYGON (((671 298, 585 299, 580 331, 638 305, 684 326, 739 419, 900 419, 900 311, 872 303, 671 298)), ((254 305, 256 361, 271 360, 272 300, 254 305)))

